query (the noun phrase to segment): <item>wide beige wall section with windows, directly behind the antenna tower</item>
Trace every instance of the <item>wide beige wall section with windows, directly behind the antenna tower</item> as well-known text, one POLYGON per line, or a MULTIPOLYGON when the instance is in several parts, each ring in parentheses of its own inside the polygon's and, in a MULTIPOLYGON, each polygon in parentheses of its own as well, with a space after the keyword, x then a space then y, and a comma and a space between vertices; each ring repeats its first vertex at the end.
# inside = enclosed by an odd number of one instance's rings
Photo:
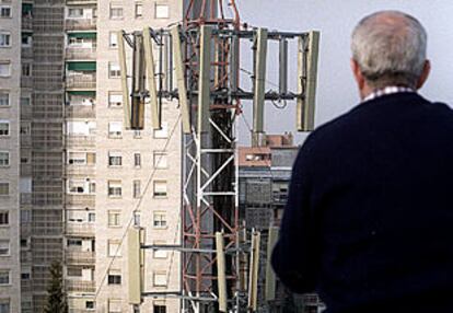
MULTIPOLYGON (((109 104, 109 97, 112 100, 113 94, 120 92, 120 80, 115 77, 118 53, 113 34, 119 30, 140 31, 144 26, 166 27, 181 21, 183 1, 101 0, 97 9, 96 311, 133 312, 127 299, 125 232, 128 227, 139 222, 146 230, 147 244, 179 244, 179 111, 177 102, 164 103, 164 127, 161 131, 151 128, 149 109, 146 112, 144 130, 126 130, 121 126, 117 132, 112 128, 115 127, 112 123, 123 123, 123 107, 109 104), (109 156, 115 155, 121 159, 121 165, 109 165, 109 156), (159 159, 165 164, 158 165, 159 159), (139 218, 135 218, 135 210, 139 218), (113 257, 117 247, 119 255, 113 257), (114 276, 121 277, 120 283, 112 283, 114 276)), ((147 251, 144 291, 179 291, 179 258, 181 255, 174 252, 147 251)), ((179 312, 179 301, 174 299, 144 299, 141 312, 158 312, 162 306, 166 306, 166 312, 179 312)))

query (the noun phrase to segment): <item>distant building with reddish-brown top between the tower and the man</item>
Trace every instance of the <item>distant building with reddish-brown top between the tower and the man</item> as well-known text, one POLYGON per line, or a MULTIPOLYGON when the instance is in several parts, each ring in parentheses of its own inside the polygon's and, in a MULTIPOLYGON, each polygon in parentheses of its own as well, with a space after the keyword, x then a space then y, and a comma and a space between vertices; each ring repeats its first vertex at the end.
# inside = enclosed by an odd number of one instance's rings
POLYGON ((265 300, 265 273, 269 227, 278 227, 287 202, 292 165, 299 147, 291 134, 267 135, 263 147, 240 147, 240 212, 247 229, 262 232, 258 312, 317 313, 323 305, 316 294, 294 295, 277 282, 276 300, 265 300))

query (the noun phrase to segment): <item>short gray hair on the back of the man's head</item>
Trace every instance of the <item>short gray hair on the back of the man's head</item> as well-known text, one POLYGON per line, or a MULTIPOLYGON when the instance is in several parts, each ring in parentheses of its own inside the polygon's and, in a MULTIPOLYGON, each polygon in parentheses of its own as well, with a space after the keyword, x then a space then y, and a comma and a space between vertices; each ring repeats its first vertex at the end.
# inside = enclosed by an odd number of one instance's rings
POLYGON ((426 61, 427 33, 420 22, 408 14, 376 12, 356 26, 351 49, 370 86, 416 88, 426 61))

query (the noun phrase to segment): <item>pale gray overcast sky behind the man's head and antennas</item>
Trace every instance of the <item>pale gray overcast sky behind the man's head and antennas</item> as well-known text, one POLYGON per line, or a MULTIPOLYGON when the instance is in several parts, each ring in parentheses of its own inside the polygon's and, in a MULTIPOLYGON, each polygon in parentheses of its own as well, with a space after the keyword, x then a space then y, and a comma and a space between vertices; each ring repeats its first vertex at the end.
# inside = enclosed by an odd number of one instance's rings
MULTIPOLYGON (((321 31, 316 125, 355 106, 358 93, 350 74, 350 33, 364 15, 379 10, 400 10, 416 16, 428 32, 432 71, 420 93, 453 104, 453 1, 449 0, 236 0, 243 22, 279 31, 321 31)), ((249 68, 249 67, 248 67, 249 68)), ((272 78, 269 78, 270 80, 272 78)), ((249 105, 247 105, 249 106, 249 105)), ((272 109, 267 105, 268 134, 294 131, 294 105, 272 109)), ((246 117, 252 121, 249 111, 246 117)), ((245 142, 246 128, 240 131, 245 142)), ((298 141, 303 136, 298 136, 298 141)))

